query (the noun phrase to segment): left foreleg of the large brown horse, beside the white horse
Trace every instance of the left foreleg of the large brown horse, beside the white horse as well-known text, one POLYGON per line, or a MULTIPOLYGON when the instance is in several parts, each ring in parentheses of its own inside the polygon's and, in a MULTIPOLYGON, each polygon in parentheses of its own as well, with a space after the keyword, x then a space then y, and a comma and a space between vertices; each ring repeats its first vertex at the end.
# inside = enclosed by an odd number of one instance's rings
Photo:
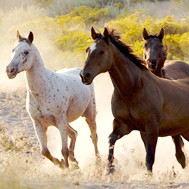
POLYGON ((113 132, 109 135, 108 174, 115 171, 113 165, 115 142, 124 135, 129 134, 131 131, 132 130, 125 123, 114 119, 113 132))

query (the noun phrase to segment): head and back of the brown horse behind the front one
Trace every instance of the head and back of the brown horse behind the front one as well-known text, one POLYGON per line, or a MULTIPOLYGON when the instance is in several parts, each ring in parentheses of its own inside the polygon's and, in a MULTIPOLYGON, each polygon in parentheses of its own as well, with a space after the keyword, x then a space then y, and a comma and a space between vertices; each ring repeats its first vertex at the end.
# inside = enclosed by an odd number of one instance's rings
POLYGON ((189 77, 189 65, 180 60, 166 60, 167 47, 163 45, 165 35, 162 28, 158 35, 149 35, 144 28, 143 39, 145 41, 143 48, 143 59, 151 71, 167 79, 182 79, 189 77))

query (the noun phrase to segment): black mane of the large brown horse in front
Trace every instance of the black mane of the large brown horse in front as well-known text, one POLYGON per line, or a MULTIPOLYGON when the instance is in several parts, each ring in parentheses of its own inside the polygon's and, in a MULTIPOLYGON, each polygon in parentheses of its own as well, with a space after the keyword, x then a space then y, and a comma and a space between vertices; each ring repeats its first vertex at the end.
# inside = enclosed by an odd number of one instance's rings
MULTIPOLYGON (((105 39, 105 37, 102 34, 98 34, 99 38, 101 39, 105 39)), ((115 34, 115 30, 112 30, 109 33, 109 39, 110 41, 118 48, 118 50, 125 56, 127 57, 129 60, 131 60, 131 62, 133 64, 135 64, 138 68, 142 69, 142 70, 148 70, 148 68, 145 66, 145 62, 140 59, 139 57, 137 57, 136 55, 133 54, 133 50, 126 45, 125 43, 123 43, 122 41, 120 41, 120 36, 115 34)))

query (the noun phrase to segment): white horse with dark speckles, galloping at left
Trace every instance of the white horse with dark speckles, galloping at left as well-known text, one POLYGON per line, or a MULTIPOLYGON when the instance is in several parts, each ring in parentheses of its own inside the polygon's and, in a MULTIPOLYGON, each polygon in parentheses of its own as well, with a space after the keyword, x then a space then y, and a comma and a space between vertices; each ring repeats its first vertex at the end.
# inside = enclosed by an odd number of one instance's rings
POLYGON ((68 160, 78 167, 74 156, 77 131, 70 126, 70 123, 83 116, 91 132, 96 158, 99 159, 93 84, 86 86, 81 82, 79 76, 81 69, 78 68, 57 72, 47 69, 33 43, 32 32, 24 38, 17 31, 17 39, 13 58, 6 67, 6 72, 9 79, 15 78, 20 72, 25 72, 26 109, 39 140, 42 155, 62 169, 69 167, 68 160), (64 160, 53 157, 48 149, 46 132, 49 126, 55 126, 60 132, 61 154, 64 160))

